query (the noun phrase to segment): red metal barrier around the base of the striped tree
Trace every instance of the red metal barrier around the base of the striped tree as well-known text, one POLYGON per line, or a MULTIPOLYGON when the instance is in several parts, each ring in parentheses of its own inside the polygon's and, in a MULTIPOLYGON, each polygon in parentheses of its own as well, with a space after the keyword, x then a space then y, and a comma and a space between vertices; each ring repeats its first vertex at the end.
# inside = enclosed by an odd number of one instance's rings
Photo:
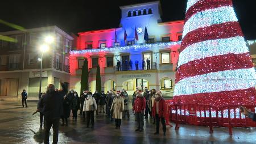
MULTIPOLYGON (((213 133, 214 126, 224 126, 229 128, 232 135, 233 127, 256 127, 256 122, 240 113, 241 105, 226 105, 217 108, 213 105, 196 104, 174 104, 172 100, 166 100, 169 120, 175 123, 175 130, 179 129, 179 124, 189 124, 198 126, 209 126, 209 133, 213 133)), ((243 105, 255 112, 256 105, 243 105)))

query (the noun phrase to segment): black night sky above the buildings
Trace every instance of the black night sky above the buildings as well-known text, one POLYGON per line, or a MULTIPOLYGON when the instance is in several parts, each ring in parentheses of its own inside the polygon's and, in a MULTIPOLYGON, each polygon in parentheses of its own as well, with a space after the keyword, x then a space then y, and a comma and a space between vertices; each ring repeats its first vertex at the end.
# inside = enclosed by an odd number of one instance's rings
MULTIPOLYGON (((1 1, 0 19, 24 28, 56 25, 68 33, 119 26, 119 6, 148 0, 89 1, 1 1)), ((162 0, 162 20, 182 20, 185 17, 187 0, 162 0)), ((256 1, 233 0, 234 9, 246 39, 256 39, 256 1)), ((0 31, 13 30, 0 24, 0 31)))

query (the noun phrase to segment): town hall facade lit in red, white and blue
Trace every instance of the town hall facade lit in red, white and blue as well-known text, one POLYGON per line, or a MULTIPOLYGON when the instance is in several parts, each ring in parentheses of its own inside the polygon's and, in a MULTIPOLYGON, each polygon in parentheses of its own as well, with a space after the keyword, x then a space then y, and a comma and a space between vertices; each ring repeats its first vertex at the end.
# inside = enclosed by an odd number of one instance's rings
POLYGON ((131 95, 136 87, 148 87, 172 96, 184 21, 163 23, 159 1, 120 9, 118 28, 79 33, 77 49, 69 58, 70 87, 80 92, 81 67, 87 58, 90 91, 95 91, 100 65, 104 91, 124 88, 131 95))

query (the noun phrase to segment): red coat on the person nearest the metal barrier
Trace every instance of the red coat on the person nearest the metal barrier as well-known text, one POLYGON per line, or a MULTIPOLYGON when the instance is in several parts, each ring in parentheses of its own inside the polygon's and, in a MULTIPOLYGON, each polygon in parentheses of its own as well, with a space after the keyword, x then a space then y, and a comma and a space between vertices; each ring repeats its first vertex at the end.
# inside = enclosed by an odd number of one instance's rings
MULTIPOLYGON (((155 117, 156 115, 156 100, 154 101, 154 106, 152 110, 152 116, 155 117)), ((167 115, 167 105, 166 101, 163 98, 160 98, 159 104, 158 104, 158 116, 159 117, 166 117, 167 115)))

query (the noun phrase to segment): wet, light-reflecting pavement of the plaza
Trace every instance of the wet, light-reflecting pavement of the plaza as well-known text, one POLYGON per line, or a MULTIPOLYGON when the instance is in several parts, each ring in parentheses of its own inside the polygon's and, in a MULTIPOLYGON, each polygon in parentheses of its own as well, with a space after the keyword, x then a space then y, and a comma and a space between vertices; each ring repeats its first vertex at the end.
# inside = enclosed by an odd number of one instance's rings
MULTIPOLYGON (((34 116, 36 103, 28 103, 22 108, 21 103, 0 101, 0 143, 43 143, 43 130, 39 125, 39 113, 34 116)), ((230 136, 227 128, 209 128, 203 126, 180 125, 179 130, 167 126, 164 136, 154 135, 155 125, 152 119, 145 120, 144 132, 134 132, 134 117, 122 120, 121 129, 115 129, 103 113, 94 119, 94 129, 86 128, 78 117, 77 121, 69 118, 69 126, 60 126, 59 143, 256 143, 256 129, 235 128, 230 136)), ((172 124, 174 125, 174 124, 172 124)), ((52 130, 50 135, 52 142, 52 130)))

